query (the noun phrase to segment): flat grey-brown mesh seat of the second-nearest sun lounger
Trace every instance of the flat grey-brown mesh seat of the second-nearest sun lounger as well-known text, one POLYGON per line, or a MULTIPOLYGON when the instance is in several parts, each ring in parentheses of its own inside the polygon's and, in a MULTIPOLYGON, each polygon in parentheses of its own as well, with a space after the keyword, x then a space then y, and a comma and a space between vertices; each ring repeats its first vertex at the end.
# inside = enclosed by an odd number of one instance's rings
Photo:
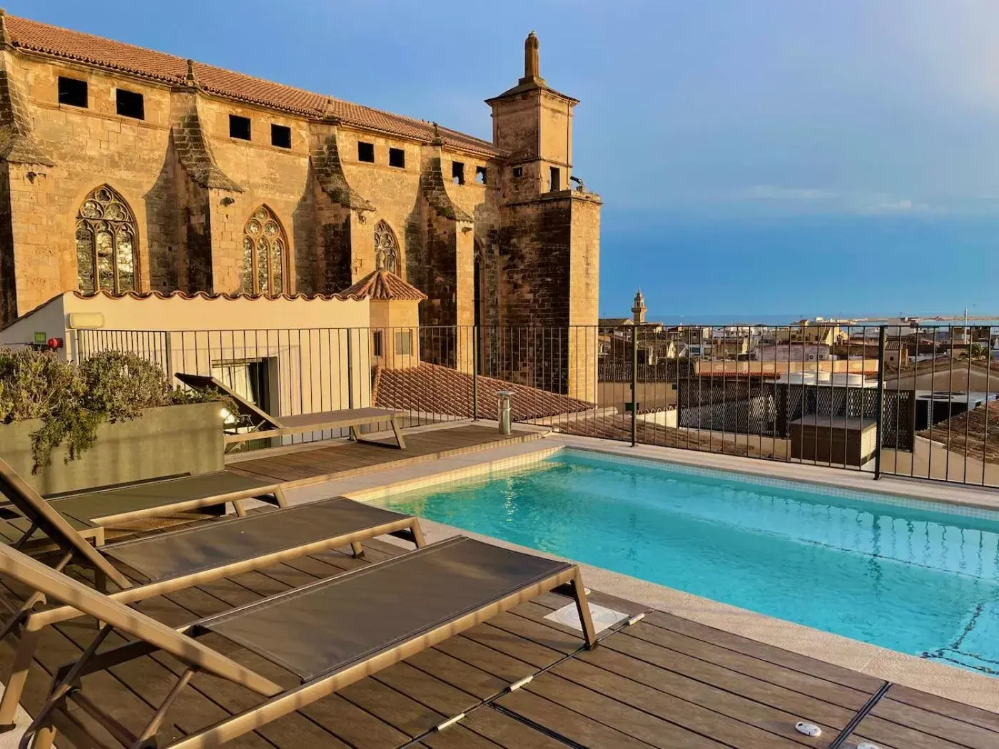
POLYGON ((199 572, 408 517, 344 497, 101 547, 147 580, 199 572))

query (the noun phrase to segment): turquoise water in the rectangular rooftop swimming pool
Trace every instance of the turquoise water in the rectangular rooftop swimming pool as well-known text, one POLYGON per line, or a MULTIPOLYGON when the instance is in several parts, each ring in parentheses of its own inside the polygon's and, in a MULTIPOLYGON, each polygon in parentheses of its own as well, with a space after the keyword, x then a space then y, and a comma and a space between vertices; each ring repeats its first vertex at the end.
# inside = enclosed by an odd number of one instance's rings
POLYGON ((563 451, 385 504, 999 675, 999 521, 772 483, 563 451))

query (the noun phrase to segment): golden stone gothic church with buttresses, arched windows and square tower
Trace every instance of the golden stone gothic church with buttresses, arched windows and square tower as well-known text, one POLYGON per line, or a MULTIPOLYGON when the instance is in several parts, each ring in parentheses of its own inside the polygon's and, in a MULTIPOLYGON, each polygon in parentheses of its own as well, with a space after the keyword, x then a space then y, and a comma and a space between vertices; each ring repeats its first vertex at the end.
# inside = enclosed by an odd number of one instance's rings
POLYGON ((376 268, 426 293, 422 326, 595 325, 600 201, 533 33, 487 104, 492 142, 0 15, 0 327, 67 291, 331 295, 376 268))

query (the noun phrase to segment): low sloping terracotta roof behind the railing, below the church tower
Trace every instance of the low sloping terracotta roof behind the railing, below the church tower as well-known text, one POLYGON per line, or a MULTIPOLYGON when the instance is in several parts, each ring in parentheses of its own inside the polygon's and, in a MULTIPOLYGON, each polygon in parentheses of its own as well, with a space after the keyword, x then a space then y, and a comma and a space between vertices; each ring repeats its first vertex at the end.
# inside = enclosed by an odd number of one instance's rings
MULTIPOLYGON (((479 377, 480 418, 497 418, 497 392, 512 390, 514 420, 543 418, 558 413, 590 410, 585 400, 537 387, 513 384, 495 377, 479 377)), ((382 370, 375 375, 375 404, 431 413, 472 416, 472 375, 449 367, 423 363, 405 370, 382 370)))

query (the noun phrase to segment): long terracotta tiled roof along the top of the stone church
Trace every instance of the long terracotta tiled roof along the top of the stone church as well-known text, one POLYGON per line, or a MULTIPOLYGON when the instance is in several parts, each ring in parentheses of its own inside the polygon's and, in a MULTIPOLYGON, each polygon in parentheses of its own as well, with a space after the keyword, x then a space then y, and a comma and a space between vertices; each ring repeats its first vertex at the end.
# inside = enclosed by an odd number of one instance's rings
MULTIPOLYGON (((14 46, 24 50, 120 70, 174 85, 181 85, 186 80, 187 61, 174 55, 80 31, 50 26, 27 18, 6 16, 5 23, 14 46)), ((331 113, 347 125, 379 130, 424 142, 430 142, 434 138, 433 124, 423 120, 394 115, 339 99, 330 99, 323 94, 266 81, 213 65, 195 63, 194 74, 199 85, 209 93, 306 117, 322 117, 327 111, 329 100, 331 113)), ((503 152, 492 143, 459 133, 457 130, 440 128, 440 133, 446 146, 487 157, 503 155, 503 152)))

